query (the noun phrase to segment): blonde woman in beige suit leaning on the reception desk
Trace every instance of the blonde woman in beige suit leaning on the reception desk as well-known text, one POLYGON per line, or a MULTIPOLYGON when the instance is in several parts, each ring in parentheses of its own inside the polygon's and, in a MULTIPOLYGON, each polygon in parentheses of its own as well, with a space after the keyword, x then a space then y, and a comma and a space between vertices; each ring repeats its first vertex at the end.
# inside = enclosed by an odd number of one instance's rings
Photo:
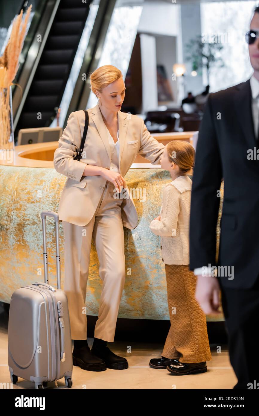
POLYGON ((79 110, 69 115, 54 153, 54 167, 67 176, 58 213, 64 228, 64 290, 74 339, 73 364, 103 371, 128 368, 127 360, 106 345, 114 340, 126 275, 123 225, 133 229, 138 223, 124 176, 137 154, 153 164, 160 163, 164 146, 150 135, 143 119, 120 111, 126 88, 118 68, 104 65, 96 69, 90 83, 98 104, 87 110, 89 126, 82 158, 74 160, 85 122, 84 111, 79 110), (115 190, 119 198, 113 197, 115 190), (103 285, 90 351, 85 299, 91 239, 103 285))

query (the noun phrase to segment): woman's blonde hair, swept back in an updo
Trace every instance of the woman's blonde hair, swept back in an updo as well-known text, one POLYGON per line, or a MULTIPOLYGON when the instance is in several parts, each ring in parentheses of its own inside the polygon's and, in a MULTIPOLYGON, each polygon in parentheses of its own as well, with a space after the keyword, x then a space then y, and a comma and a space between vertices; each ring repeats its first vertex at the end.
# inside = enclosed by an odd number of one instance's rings
MULTIPOLYGON (((121 71, 113 65, 103 65, 94 70, 90 75, 91 90, 95 94, 95 89, 102 92, 103 88, 111 84, 113 81, 121 78, 121 71)), ((96 94, 95 94, 96 95, 96 94)))

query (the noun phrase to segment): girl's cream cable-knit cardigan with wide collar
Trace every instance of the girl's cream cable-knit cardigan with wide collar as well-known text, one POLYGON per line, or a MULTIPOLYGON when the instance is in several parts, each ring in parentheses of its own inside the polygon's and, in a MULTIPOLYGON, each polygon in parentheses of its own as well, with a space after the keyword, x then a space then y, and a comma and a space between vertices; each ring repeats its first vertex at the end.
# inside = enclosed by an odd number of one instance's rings
POLYGON ((160 221, 149 228, 160 235, 162 261, 166 264, 189 264, 189 221, 192 180, 178 176, 163 189, 160 221))

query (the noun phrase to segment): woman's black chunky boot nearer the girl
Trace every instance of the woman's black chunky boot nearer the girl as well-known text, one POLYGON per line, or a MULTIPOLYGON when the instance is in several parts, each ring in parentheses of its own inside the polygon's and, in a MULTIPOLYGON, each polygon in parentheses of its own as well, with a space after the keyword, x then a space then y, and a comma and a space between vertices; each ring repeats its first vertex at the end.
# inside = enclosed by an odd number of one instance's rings
POLYGON ((107 368, 111 368, 113 370, 124 370, 128 368, 128 361, 126 358, 119 357, 114 354, 114 352, 107 347, 107 342, 103 339, 94 338, 91 354, 103 359, 107 368))

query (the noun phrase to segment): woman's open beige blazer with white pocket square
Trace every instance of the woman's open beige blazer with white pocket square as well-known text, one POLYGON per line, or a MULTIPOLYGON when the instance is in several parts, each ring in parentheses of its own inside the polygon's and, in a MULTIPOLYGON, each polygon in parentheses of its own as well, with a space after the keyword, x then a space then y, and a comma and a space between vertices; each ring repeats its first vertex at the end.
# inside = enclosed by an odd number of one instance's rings
MULTIPOLYGON (((87 111, 89 126, 81 160, 76 161, 73 157, 79 149, 84 131, 83 110, 69 115, 67 126, 58 142, 59 146, 54 152, 56 171, 67 176, 59 201, 59 219, 81 226, 89 223, 93 217, 106 184, 106 179, 102 176, 82 176, 85 165, 88 163, 106 169, 111 166, 109 139, 99 105, 96 104, 87 111)), ((123 177, 137 154, 141 154, 152 164, 160 163, 165 146, 151 136, 143 119, 118 111, 118 128, 119 172, 123 177)), ((121 204, 121 218, 124 227, 136 228, 138 215, 130 192, 129 197, 123 199, 121 204)))

